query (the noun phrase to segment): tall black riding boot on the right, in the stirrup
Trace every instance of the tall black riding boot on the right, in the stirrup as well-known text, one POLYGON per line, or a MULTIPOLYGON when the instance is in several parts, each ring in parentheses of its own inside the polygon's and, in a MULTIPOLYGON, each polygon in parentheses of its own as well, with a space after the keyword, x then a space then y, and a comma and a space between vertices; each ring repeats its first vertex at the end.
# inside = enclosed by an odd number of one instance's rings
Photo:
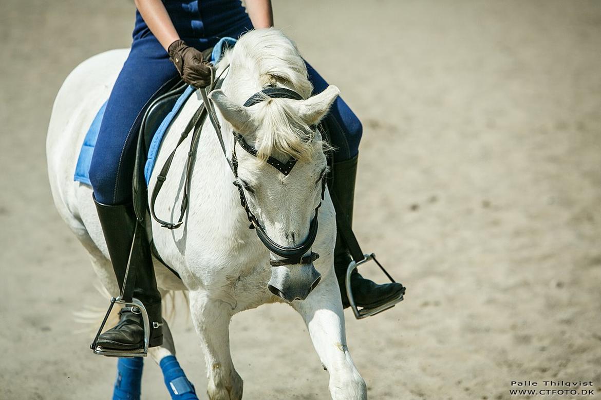
MULTIPOLYGON (((358 157, 334 163, 332 170, 333 180, 330 186, 341 207, 341 210, 336 210, 336 212, 344 212, 351 225, 353 223, 353 200, 355 197, 358 157)), ((336 246, 334 248, 334 269, 338 278, 344 308, 350 306, 349 297, 346 294, 346 271, 351 260, 349 250, 344 245, 340 234, 337 234, 336 246)), ((398 297, 399 294, 404 293, 405 290, 400 283, 378 285, 369 279, 363 278, 356 269, 353 270, 350 284, 353 299, 355 299, 356 305, 361 308, 375 308, 383 305, 398 297)))

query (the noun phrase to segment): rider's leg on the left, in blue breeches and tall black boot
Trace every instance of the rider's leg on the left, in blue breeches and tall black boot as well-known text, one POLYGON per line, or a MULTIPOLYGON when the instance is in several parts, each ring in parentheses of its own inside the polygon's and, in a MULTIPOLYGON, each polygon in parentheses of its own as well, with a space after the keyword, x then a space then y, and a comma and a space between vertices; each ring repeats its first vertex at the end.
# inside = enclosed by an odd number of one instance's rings
MULTIPOLYGON (((132 252, 137 261, 133 297, 140 300, 150 317, 150 346, 160 345, 162 322, 160 293, 146 240, 133 243, 136 217, 132 207, 132 176, 135 144, 141 117, 156 94, 173 85, 177 71, 152 35, 134 37, 106 105, 90 167, 98 216, 119 287, 132 252), (157 328, 153 329, 153 323, 157 328)), ((97 345, 115 350, 140 350, 144 329, 137 308, 123 308, 117 326, 100 335, 97 345)))

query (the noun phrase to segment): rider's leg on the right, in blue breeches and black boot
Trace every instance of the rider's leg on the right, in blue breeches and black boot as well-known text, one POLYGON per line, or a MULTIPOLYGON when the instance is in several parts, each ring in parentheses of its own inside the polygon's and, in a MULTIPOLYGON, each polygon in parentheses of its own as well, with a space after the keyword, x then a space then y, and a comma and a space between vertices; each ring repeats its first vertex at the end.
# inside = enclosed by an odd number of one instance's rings
MULTIPOLYGON (((308 63, 307 70, 311 83, 313 83, 314 93, 322 92, 328 87, 328 83, 308 63)), ((344 212, 349 223, 352 224, 357 159, 363 128, 355 113, 340 97, 332 104, 325 124, 328 125, 332 145, 336 148, 334 170, 332 171, 333 179, 330 187, 342 208, 342 210, 336 211, 344 212)), ((334 269, 338 278, 344 308, 349 306, 345 278, 350 260, 352 258, 349 250, 344 245, 340 234, 338 234, 334 249, 334 269)), ((365 308, 374 308, 389 302, 404 291, 403 285, 399 283, 378 285, 369 279, 363 278, 356 269, 353 270, 350 283, 356 305, 365 308)))

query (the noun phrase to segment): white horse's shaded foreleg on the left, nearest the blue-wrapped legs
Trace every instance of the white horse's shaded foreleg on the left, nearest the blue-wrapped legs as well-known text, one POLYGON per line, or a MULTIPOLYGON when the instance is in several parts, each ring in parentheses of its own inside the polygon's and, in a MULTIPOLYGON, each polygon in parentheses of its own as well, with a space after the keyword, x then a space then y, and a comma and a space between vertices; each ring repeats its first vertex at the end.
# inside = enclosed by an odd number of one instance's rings
POLYGON ((234 369, 230 354, 231 306, 210 299, 204 291, 192 291, 190 309, 204 350, 209 399, 242 399, 242 378, 234 369))

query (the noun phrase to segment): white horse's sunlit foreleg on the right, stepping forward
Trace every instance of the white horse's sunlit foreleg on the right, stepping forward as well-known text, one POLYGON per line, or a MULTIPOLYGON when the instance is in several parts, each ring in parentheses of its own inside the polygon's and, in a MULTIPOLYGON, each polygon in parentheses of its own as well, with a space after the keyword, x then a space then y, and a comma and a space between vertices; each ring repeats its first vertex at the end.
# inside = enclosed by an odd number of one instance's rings
POLYGON ((359 375, 346 346, 344 314, 334 272, 294 308, 302 315, 311 341, 330 374, 329 389, 334 400, 367 399, 365 381, 359 375))

